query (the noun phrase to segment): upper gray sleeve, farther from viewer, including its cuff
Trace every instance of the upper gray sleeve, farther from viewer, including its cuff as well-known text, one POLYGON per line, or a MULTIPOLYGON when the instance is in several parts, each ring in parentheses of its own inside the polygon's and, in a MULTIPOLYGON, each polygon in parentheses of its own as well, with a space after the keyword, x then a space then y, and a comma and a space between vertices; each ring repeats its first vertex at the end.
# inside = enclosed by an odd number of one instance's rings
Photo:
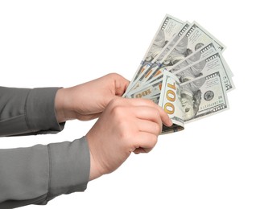
POLYGON ((64 123, 56 121, 54 109, 58 89, 0 87, 0 137, 64 129, 64 123))

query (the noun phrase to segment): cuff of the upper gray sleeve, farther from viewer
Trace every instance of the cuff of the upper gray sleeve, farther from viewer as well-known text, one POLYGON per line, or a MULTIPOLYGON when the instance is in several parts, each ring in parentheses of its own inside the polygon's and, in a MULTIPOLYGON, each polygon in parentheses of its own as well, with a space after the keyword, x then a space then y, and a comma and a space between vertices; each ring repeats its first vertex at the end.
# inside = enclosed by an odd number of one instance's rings
POLYGON ((55 96, 59 88, 33 88, 27 95, 25 114, 31 132, 56 133, 64 123, 56 120, 55 96))

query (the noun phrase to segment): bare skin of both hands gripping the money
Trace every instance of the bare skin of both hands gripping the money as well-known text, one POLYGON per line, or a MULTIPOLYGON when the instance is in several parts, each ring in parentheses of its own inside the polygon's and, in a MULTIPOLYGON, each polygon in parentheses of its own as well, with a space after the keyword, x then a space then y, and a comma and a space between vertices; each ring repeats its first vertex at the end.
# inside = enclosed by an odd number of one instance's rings
POLYGON ((85 136, 90 151, 89 180, 113 172, 132 152, 150 152, 162 125, 172 125, 167 113, 151 100, 122 98, 128 84, 122 76, 109 74, 56 93, 59 122, 99 117, 85 136))

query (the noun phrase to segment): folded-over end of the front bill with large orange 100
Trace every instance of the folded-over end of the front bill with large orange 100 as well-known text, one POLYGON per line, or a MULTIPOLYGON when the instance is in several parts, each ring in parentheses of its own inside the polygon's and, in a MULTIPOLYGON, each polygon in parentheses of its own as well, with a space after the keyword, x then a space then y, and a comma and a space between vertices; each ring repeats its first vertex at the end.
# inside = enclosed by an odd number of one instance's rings
POLYGON ((163 88, 159 97, 159 106, 168 114, 173 124, 171 127, 163 125, 162 133, 172 133, 184 129, 180 82, 171 72, 163 73, 163 88))

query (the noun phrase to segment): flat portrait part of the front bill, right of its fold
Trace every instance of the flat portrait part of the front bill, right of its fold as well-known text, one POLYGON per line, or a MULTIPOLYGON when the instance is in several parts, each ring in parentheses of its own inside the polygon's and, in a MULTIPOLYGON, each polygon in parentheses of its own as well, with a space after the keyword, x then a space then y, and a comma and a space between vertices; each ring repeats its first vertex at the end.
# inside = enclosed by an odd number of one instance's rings
POLYGON ((213 72, 197 80, 180 84, 185 123, 229 109, 221 73, 213 72))

